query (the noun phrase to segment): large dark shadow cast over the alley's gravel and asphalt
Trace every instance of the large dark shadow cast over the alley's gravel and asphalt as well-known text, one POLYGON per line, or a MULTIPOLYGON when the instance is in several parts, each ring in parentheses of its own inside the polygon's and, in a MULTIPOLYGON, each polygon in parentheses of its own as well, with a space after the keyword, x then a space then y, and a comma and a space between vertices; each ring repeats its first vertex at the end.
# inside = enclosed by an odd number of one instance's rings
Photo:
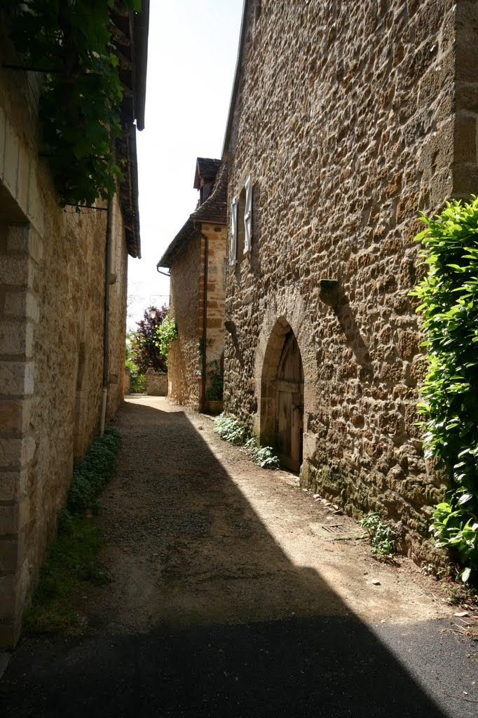
POLYGON ((22 640, 5 715, 446 715, 317 572, 291 564, 182 412, 127 404, 119 423, 108 521, 133 555, 154 537, 159 560, 108 598, 96 635, 22 640), (135 631, 141 611, 149 628, 135 631))

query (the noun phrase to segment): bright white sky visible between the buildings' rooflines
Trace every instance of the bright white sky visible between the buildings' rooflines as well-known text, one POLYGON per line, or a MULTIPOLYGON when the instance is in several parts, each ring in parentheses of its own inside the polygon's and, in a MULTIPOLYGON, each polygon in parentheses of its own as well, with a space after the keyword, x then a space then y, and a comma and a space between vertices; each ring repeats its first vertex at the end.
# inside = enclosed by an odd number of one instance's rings
POLYGON ((156 262, 195 210, 197 157, 220 158, 243 0, 151 0, 146 126, 137 134, 141 259, 129 258, 128 329, 168 304, 156 262))

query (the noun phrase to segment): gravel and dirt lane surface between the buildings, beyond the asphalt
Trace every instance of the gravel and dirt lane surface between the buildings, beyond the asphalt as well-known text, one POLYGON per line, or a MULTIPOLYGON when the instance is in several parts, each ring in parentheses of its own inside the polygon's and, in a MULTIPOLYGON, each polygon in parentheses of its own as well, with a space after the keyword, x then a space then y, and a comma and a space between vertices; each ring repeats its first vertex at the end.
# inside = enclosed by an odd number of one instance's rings
POLYGON ((116 478, 101 500, 111 582, 81 600, 100 633, 357 616, 365 623, 446 617, 439 584, 399 558, 370 555, 351 518, 259 468, 212 431, 209 416, 133 396, 116 478))

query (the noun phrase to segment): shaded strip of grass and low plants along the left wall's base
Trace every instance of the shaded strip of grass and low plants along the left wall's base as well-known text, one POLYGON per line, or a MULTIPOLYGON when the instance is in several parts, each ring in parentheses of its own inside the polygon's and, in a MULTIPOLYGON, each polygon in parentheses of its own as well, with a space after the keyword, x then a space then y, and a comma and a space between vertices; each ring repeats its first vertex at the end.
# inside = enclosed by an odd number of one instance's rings
POLYGON ((108 582, 98 565, 103 528, 91 513, 98 509, 98 495, 113 475, 120 444, 120 432, 107 427, 75 467, 67 508, 60 513, 57 536, 43 561, 32 605, 24 613, 25 630, 52 633, 78 629, 80 592, 87 585, 108 582))

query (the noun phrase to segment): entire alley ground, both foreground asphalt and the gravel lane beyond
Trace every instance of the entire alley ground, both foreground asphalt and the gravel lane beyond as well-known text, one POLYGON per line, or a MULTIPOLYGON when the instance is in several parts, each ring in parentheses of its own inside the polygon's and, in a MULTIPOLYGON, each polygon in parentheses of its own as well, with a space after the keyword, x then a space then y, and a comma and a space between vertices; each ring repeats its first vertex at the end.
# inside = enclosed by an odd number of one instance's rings
POLYGON ((476 715, 477 653, 434 579, 222 442, 212 419, 131 396, 101 499, 110 582, 82 635, 24 636, 8 716, 476 715))

